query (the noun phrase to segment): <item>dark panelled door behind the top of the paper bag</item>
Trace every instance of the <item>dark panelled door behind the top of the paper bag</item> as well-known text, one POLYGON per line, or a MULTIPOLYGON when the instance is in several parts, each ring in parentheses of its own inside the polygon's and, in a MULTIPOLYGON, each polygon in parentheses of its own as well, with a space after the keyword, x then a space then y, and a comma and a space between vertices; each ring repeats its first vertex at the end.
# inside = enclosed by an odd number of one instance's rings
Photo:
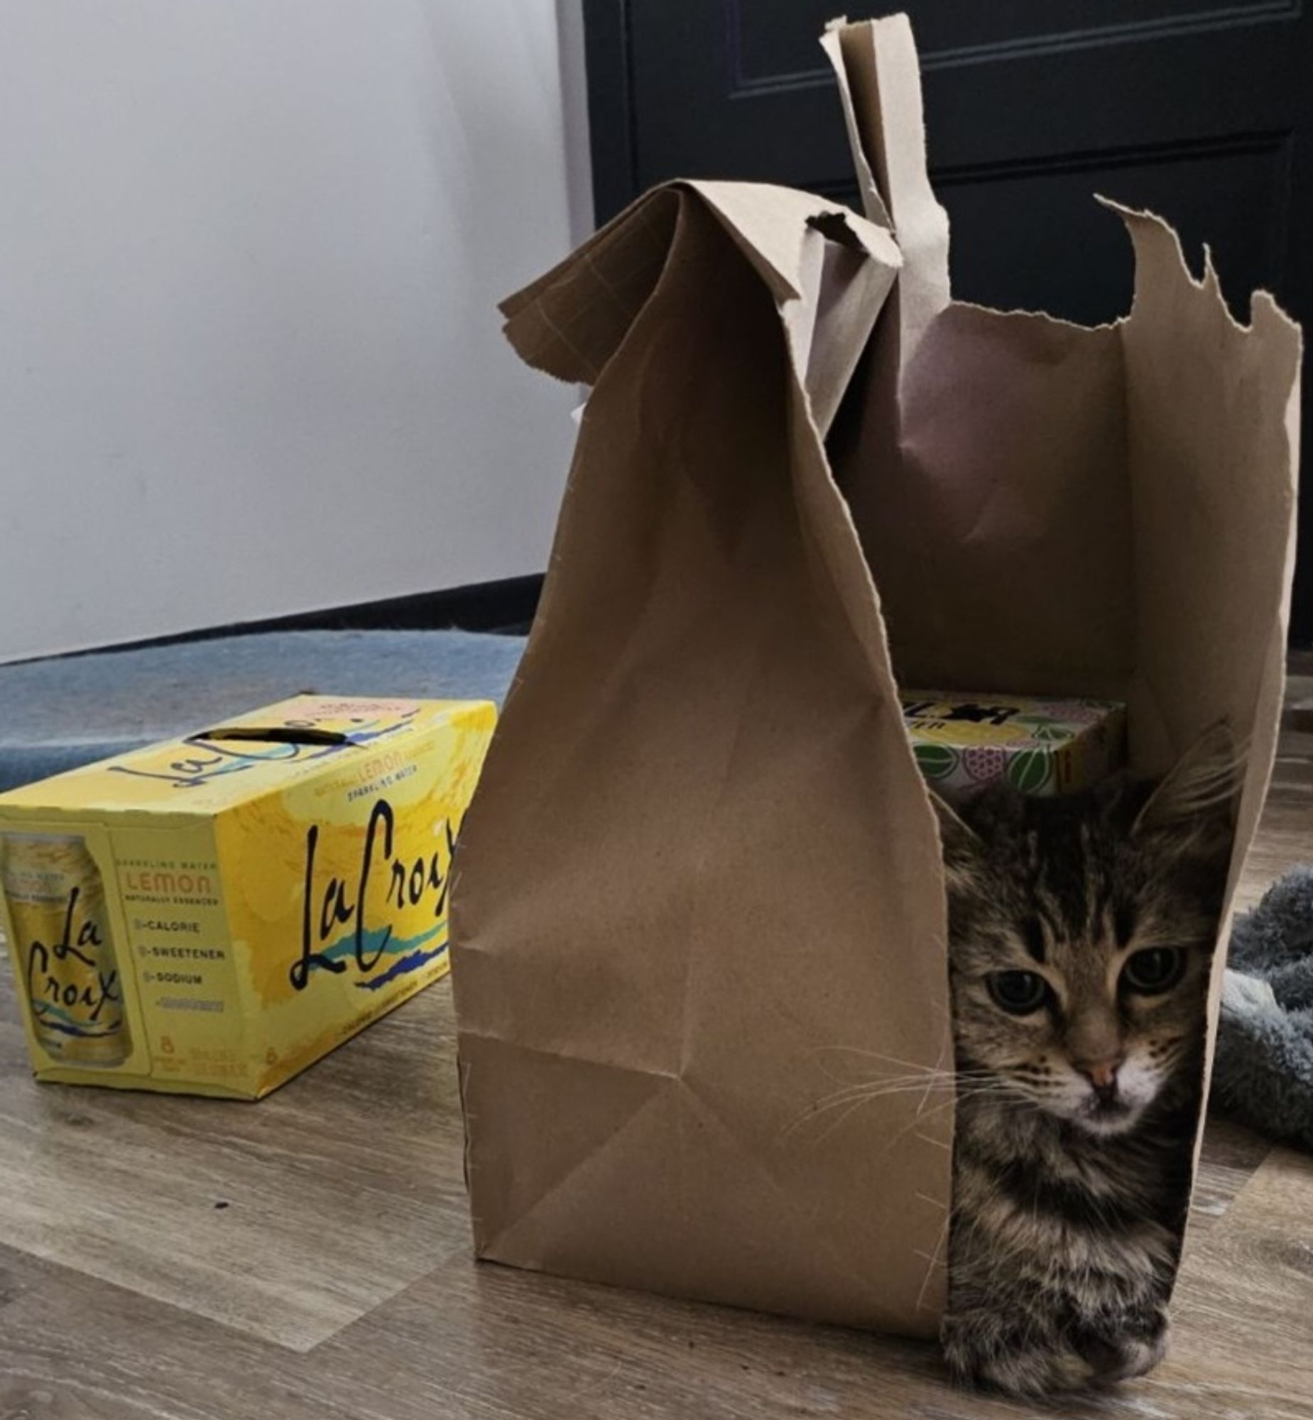
MULTIPOLYGON (((779 182, 857 206, 817 45, 844 9, 836 0, 584 6, 598 220, 666 178, 779 182)), ((904 9, 921 48, 956 297, 1087 324, 1124 314, 1130 250, 1093 202, 1100 192, 1167 217, 1196 271, 1206 240, 1239 320, 1248 293, 1265 287, 1310 324, 1313 14, 1303 0, 904 9)), ((1293 608, 1303 643, 1313 642, 1309 494, 1293 608)))

